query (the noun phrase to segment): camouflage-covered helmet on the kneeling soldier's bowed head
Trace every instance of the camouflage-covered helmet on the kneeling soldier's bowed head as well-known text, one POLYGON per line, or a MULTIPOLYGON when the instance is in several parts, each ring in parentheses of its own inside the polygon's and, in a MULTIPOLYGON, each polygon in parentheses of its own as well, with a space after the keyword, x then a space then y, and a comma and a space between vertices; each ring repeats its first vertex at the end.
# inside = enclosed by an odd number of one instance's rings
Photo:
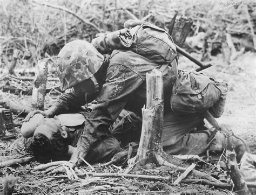
POLYGON ((56 72, 60 89, 66 90, 93 77, 103 64, 104 57, 85 40, 73 40, 59 52, 56 72))

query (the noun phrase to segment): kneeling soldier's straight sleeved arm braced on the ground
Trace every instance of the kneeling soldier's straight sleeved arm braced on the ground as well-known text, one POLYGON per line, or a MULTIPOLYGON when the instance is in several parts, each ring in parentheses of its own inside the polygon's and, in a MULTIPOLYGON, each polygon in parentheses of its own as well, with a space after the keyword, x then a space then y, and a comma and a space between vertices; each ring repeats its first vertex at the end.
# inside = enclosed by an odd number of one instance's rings
POLYGON ((110 134, 109 126, 142 82, 143 79, 130 68, 119 64, 109 65, 106 83, 96 98, 98 103, 86 118, 84 131, 77 143, 80 156, 85 157, 94 142, 110 134))

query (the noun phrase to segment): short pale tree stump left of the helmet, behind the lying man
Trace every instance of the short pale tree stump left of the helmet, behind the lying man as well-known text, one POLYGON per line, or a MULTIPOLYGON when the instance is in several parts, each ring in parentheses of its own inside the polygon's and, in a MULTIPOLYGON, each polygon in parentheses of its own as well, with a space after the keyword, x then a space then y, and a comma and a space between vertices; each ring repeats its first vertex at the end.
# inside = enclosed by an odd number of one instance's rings
POLYGON ((48 61, 39 60, 32 90, 32 110, 44 110, 44 98, 48 75, 48 61))

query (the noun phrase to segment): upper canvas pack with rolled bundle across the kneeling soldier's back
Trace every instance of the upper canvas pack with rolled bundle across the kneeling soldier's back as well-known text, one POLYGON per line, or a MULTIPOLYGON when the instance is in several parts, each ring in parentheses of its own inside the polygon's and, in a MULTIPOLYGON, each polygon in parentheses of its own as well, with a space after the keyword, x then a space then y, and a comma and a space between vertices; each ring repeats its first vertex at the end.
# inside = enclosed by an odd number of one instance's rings
POLYGON ((164 29, 137 20, 126 21, 125 27, 119 31, 98 34, 92 40, 92 45, 101 54, 117 49, 131 50, 156 64, 170 64, 177 56, 176 46, 164 29))

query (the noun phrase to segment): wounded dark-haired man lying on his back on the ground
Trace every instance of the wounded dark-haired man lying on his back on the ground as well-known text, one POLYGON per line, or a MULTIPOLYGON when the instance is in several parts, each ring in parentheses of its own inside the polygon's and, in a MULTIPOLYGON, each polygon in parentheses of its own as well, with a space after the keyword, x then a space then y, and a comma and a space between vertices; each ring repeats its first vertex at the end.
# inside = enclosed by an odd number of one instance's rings
MULTIPOLYGON (((85 117, 88 115, 88 112, 79 112, 60 114, 50 119, 42 114, 34 115, 30 121, 23 123, 21 128, 26 150, 31 152, 39 162, 68 161, 72 156, 73 148, 77 147, 78 138, 84 129, 85 117)), ((130 136, 139 138, 140 131, 137 127, 140 127, 141 122, 134 113, 122 110, 109 130, 111 132, 116 129, 114 132, 119 137, 120 134, 124 136, 125 131, 130 131, 130 136)), ((132 140, 132 138, 126 138, 132 140)), ((124 137, 120 139, 124 140, 124 137)), ((133 140, 138 141, 138 139, 133 140)), ((93 144, 85 160, 89 163, 108 162, 119 151, 119 142, 109 134, 93 144)))

